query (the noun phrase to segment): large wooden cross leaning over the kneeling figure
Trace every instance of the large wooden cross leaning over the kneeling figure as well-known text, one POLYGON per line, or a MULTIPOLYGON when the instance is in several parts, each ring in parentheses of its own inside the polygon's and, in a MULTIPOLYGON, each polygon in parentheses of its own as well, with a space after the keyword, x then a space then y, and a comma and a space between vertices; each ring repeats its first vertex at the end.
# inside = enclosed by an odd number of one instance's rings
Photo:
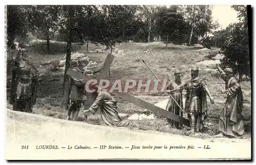
MULTIPOLYGON (((108 56, 106 57, 106 60, 105 60, 105 62, 103 64, 103 67, 101 68, 100 74, 97 77, 98 82, 99 82, 100 79, 104 79, 105 78, 105 76, 108 73, 109 68, 110 68, 113 60, 114 60, 114 55, 113 54, 108 54, 108 56)), ((72 77, 77 78, 77 79, 84 79, 84 81, 86 81, 86 82, 88 80, 90 80, 90 79, 93 79, 93 78, 91 78, 91 77, 89 77, 87 75, 75 72, 75 71, 73 71, 71 69, 68 69, 67 75, 72 76, 72 77)), ((172 119, 172 120, 177 121, 177 122, 179 122, 181 124, 184 124, 186 126, 190 126, 188 119, 180 117, 179 115, 176 115, 176 114, 174 114, 172 112, 168 112, 165 109, 162 109, 162 108, 160 108, 160 107, 158 107, 156 105, 153 105, 151 103, 148 103, 146 101, 143 101, 143 100, 141 100, 139 98, 136 98, 136 97, 134 97, 132 95, 129 95, 127 93, 119 93, 118 91, 115 91, 115 90, 113 92, 111 92, 111 94, 113 94, 115 96, 118 96, 118 97, 120 97, 122 99, 125 99, 127 101, 130 101, 130 102, 132 102, 132 103, 134 103, 136 105, 139 105, 139 106, 141 106, 143 108, 146 108, 146 109, 148 109, 148 110, 150 110, 150 111, 152 111, 152 112, 154 112, 156 114, 162 115, 162 116, 164 116, 164 117, 166 117, 168 119, 172 119)), ((97 97, 96 93, 90 93, 90 96, 88 97, 88 104, 87 104, 87 106, 91 106, 93 104, 94 100, 96 99, 96 97, 97 97)))

